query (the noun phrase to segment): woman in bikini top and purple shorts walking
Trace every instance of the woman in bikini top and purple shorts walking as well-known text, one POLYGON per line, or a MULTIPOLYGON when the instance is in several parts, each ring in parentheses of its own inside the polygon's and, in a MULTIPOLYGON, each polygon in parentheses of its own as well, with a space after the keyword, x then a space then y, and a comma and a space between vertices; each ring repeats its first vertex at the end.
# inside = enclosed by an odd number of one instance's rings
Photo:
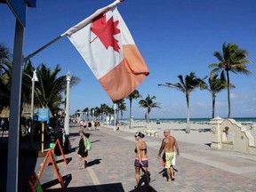
POLYGON ((134 137, 136 142, 134 152, 136 153, 134 167, 135 167, 135 180, 137 185, 134 186, 136 189, 140 189, 140 169, 143 172, 142 178, 146 179, 145 184, 148 188, 149 186, 149 178, 148 178, 148 156, 147 156, 147 145, 142 138, 144 138, 144 134, 141 132, 136 132, 134 137))

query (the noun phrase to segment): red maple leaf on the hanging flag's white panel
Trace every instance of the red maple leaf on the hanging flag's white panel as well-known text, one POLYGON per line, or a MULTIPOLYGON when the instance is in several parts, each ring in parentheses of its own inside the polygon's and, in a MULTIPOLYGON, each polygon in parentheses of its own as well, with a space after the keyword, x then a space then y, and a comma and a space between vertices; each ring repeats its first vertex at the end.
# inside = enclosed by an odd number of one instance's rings
MULTIPOLYGON (((106 22, 106 15, 100 15, 99 17, 95 18, 92 20, 92 32, 100 38, 100 41, 106 49, 108 49, 109 46, 112 46, 113 49, 116 52, 119 52, 119 45, 118 41, 114 37, 114 35, 120 33, 120 29, 116 28, 118 25, 119 20, 116 20, 113 22, 113 17, 111 17, 107 22, 106 22)), ((91 43, 97 38, 95 37, 91 43)))

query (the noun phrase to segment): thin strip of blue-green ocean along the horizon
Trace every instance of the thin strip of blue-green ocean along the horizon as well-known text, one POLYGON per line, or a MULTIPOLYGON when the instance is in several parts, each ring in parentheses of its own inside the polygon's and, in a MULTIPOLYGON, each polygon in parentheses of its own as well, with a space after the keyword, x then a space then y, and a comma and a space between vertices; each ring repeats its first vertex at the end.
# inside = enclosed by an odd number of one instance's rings
MULTIPOLYGON (((190 118, 190 123, 210 123, 212 118, 190 118)), ((242 124, 256 124, 256 117, 234 117, 237 123, 242 124)), ((135 118, 134 121, 145 121, 144 118, 135 118)), ((186 123, 187 118, 150 118, 150 122, 160 122, 160 123, 186 123)))

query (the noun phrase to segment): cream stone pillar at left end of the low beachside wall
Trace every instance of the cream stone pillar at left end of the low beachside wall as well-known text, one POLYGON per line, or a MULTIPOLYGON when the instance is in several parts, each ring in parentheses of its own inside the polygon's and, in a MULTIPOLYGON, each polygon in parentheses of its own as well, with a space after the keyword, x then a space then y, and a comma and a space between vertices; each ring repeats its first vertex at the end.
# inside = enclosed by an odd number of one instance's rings
POLYGON ((212 132, 212 145, 211 148, 222 148, 222 132, 220 126, 224 119, 219 116, 211 120, 211 132, 212 132))

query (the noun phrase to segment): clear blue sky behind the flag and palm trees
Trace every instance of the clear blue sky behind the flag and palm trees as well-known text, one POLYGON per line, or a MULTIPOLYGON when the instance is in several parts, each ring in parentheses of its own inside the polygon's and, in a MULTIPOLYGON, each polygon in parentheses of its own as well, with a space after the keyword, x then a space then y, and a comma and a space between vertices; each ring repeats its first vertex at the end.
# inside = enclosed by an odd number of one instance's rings
MULTIPOLYGON (((112 0, 37 0, 36 8, 28 8, 24 56, 35 52, 44 44, 60 36, 97 9, 112 0)), ((140 53, 146 61, 150 75, 138 90, 143 98, 156 96, 161 108, 154 108, 150 117, 186 117, 186 100, 182 92, 158 87, 165 82, 177 83, 178 75, 191 71, 196 76, 209 75, 208 65, 217 60, 214 51, 221 51, 223 43, 238 44, 249 52, 254 64, 248 69, 252 75, 231 74, 236 85, 231 90, 231 116, 256 116, 256 1, 254 0, 125 0, 117 6, 132 33, 140 53)), ((0 4, 0 43, 12 50, 15 18, 6 4, 0 4)), ((70 113, 76 109, 100 107, 100 103, 113 103, 93 76, 91 70, 69 42, 67 37, 38 53, 33 65, 40 63, 54 68, 60 64, 60 75, 68 69, 81 78, 80 84, 70 92, 70 113)), ((139 108, 139 100, 132 102, 132 115, 143 117, 145 109, 139 108)), ((127 102, 128 116, 129 103, 127 102)), ((216 115, 228 115, 227 92, 217 95, 216 115)), ((207 91, 192 92, 191 117, 210 117, 212 98, 207 91)))

